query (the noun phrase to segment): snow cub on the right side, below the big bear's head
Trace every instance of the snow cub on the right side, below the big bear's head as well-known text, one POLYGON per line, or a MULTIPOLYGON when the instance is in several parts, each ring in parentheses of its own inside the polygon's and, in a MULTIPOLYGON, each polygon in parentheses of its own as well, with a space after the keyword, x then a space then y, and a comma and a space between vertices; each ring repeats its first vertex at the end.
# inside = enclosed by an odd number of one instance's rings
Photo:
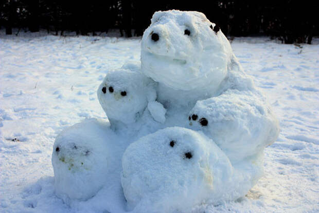
POLYGON ((189 127, 201 130, 232 162, 258 155, 278 137, 278 121, 258 91, 228 90, 197 101, 189 114, 189 127))

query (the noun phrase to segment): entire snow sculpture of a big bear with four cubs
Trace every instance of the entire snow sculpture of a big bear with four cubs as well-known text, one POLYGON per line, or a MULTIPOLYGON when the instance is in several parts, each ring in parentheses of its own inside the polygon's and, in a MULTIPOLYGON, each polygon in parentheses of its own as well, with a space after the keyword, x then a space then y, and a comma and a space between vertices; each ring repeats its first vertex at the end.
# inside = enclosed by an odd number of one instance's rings
POLYGON ((262 176, 263 150, 279 133, 227 38, 200 12, 155 12, 140 65, 109 72, 97 95, 110 123, 84 121, 56 139, 59 197, 86 200, 113 181, 136 212, 236 200, 262 176), (108 180, 121 160, 121 177, 108 180))

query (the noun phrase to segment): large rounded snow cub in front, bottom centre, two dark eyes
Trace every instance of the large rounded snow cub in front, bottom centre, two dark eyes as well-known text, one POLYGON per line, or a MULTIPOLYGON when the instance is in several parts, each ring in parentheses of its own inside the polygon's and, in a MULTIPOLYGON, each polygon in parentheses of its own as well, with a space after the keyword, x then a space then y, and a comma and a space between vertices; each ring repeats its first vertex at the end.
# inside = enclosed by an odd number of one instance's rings
POLYGON ((137 212, 139 208, 188 212, 205 199, 214 199, 212 193, 222 187, 221 178, 226 180, 232 171, 228 158, 211 139, 179 127, 132 143, 123 154, 122 169, 125 197, 137 212))

